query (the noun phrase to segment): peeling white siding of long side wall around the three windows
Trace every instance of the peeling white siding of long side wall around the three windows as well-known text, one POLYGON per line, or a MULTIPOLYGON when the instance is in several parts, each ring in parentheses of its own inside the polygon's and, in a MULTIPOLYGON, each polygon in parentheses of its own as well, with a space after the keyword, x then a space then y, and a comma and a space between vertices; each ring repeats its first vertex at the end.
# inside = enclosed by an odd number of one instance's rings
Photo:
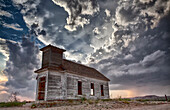
POLYGON ((107 81, 92 79, 88 77, 78 76, 70 73, 67 74, 67 98, 78 99, 86 97, 87 99, 107 99, 109 98, 109 86, 107 81), (78 81, 82 82, 82 95, 78 95, 78 81), (91 83, 94 83, 94 96, 91 96, 91 83), (104 96, 101 96, 100 85, 104 87, 104 96))

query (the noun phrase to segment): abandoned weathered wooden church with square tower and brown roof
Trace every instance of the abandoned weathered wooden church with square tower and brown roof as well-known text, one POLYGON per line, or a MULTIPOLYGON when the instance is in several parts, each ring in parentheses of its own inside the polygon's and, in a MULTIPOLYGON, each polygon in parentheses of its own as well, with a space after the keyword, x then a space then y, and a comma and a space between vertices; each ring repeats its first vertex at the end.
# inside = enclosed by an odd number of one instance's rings
POLYGON ((96 69, 63 59, 65 50, 48 45, 41 49, 36 100, 108 99, 109 79, 96 69))

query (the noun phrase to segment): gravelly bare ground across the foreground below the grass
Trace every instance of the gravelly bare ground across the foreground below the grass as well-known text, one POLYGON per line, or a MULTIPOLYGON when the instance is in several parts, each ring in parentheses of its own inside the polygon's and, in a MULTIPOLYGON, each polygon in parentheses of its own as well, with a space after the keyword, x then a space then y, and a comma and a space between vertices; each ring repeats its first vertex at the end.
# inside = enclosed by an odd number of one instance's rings
MULTIPOLYGON (((0 108, 0 110, 30 110, 30 106, 0 108)), ((32 110, 170 110, 169 102, 114 102, 83 103, 50 108, 34 108, 32 110)))

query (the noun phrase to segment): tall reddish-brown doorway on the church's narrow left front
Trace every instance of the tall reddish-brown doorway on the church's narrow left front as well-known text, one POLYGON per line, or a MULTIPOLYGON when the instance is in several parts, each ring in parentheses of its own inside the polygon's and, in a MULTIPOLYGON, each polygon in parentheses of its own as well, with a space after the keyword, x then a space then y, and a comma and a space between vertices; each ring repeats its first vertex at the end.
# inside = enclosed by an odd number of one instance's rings
POLYGON ((39 88, 38 88, 38 100, 44 100, 45 96, 45 80, 46 77, 41 77, 39 79, 39 88))

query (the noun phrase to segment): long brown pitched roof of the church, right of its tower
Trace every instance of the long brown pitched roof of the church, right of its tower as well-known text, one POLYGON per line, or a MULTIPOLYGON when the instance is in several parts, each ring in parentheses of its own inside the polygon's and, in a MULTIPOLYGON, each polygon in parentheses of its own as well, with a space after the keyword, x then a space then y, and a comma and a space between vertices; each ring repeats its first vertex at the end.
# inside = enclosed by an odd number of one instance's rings
POLYGON ((107 77, 105 77, 96 69, 66 59, 63 59, 63 68, 66 71, 72 72, 73 74, 100 79, 104 81, 110 81, 107 77))

